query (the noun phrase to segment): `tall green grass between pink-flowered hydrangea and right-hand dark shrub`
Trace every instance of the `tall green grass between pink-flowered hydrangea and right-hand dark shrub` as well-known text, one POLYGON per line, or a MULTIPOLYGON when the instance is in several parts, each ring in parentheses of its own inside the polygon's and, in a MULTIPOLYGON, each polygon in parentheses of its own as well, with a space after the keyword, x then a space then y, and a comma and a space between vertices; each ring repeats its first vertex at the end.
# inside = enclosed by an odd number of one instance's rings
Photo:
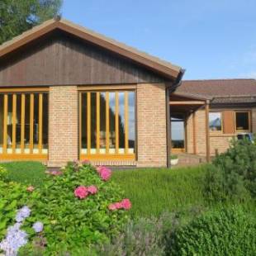
POLYGON ((159 216, 163 211, 187 211, 206 206, 203 165, 190 168, 116 171, 113 180, 132 202, 131 216, 159 216))

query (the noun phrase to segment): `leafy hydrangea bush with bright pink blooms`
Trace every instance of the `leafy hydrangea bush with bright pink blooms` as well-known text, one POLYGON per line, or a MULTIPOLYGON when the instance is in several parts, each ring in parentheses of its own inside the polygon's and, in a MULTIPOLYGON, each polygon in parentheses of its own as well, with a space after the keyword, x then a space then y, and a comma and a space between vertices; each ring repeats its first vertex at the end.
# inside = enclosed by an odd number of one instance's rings
POLYGON ((74 161, 47 176, 40 190, 25 189, 31 213, 21 229, 30 242, 20 249, 22 254, 84 252, 110 240, 126 223, 131 204, 111 182, 109 168, 74 161))

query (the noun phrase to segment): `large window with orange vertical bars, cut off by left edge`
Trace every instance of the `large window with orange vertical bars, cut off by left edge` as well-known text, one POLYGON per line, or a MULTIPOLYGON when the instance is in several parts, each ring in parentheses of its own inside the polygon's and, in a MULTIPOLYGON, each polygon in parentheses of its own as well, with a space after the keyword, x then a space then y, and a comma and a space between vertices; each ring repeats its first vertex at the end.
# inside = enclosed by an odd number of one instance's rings
POLYGON ((48 94, 0 93, 0 154, 47 153, 48 94))

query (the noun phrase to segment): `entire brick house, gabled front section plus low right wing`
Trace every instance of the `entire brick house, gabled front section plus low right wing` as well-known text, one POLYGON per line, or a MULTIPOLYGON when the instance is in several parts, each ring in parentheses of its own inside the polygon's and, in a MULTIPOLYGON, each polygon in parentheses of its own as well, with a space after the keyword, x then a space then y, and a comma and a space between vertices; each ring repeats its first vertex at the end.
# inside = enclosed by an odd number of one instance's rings
POLYGON ((0 46, 0 161, 166 167, 255 131, 255 80, 184 81, 184 70, 70 21, 0 46))

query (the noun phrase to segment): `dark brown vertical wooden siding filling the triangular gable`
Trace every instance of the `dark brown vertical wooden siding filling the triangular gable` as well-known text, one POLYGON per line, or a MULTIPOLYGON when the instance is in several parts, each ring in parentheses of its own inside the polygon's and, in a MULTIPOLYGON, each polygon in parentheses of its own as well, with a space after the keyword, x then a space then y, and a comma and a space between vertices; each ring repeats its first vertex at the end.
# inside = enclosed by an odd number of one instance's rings
POLYGON ((0 60, 0 87, 163 81, 142 66, 57 31, 0 60))

